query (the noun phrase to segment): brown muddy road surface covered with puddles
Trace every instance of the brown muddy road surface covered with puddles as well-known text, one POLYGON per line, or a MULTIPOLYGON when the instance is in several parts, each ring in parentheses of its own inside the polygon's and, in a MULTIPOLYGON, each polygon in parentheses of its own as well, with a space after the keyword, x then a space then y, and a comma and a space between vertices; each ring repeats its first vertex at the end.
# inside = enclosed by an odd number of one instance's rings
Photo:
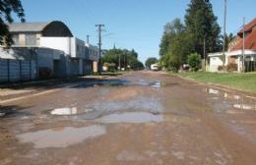
POLYGON ((0 165, 256 164, 256 101, 153 72, 1 105, 0 165))

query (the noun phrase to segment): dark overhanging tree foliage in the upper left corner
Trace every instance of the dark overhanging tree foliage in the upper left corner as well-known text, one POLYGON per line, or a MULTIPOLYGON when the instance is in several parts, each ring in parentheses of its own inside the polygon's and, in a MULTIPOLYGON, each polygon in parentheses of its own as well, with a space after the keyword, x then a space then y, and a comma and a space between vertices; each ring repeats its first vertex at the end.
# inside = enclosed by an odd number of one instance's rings
POLYGON ((25 14, 20 0, 0 0, 0 45, 13 43, 8 23, 13 23, 12 13, 17 14, 21 22, 25 22, 25 14))

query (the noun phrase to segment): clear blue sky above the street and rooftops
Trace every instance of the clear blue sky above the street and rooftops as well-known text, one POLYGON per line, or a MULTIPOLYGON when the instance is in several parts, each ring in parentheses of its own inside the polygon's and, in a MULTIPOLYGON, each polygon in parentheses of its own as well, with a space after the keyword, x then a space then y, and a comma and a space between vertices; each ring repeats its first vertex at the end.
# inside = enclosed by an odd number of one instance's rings
MULTIPOLYGON (((183 21, 190 0, 21 0, 27 22, 62 21, 76 37, 97 44, 96 24, 105 25, 102 48, 134 49, 139 59, 159 58, 163 26, 183 21)), ((215 15, 224 25, 224 0, 212 0, 215 15)), ((256 0, 227 0, 226 32, 236 33, 243 17, 256 17, 256 0)))

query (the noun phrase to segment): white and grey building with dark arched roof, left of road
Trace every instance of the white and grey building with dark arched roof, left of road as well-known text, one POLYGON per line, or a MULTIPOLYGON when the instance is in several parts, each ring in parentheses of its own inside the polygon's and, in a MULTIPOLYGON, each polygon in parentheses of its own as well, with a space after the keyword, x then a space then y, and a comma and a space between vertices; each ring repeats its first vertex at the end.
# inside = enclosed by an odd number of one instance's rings
POLYGON ((96 48, 74 37, 62 22, 17 23, 9 25, 9 30, 15 56, 35 60, 38 76, 42 68, 48 68, 56 77, 93 73, 94 61, 98 60, 96 48))

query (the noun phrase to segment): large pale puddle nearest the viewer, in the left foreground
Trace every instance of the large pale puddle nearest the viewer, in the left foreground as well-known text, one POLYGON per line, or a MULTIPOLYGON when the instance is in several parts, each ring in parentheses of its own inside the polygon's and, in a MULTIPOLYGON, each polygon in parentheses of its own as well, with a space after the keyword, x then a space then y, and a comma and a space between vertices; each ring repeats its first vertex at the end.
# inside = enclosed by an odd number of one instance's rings
POLYGON ((96 138, 106 134, 103 126, 89 126, 84 128, 60 128, 54 130, 42 130, 18 135, 21 142, 32 142, 34 148, 67 147, 83 142, 86 139, 96 138))

